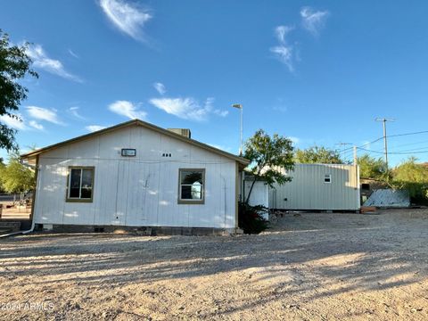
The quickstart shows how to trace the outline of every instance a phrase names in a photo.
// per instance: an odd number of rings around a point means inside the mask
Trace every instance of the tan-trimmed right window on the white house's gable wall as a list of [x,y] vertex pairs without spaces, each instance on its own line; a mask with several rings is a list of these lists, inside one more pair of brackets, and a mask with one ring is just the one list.
[[205,169],[180,169],[178,203],[203,204]]

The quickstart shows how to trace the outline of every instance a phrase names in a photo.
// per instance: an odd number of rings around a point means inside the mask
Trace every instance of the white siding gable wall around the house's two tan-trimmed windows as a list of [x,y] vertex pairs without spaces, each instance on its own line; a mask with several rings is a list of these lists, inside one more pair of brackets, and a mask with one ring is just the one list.
[[[136,148],[136,157],[122,157]],[[162,157],[163,152],[172,157]],[[93,202],[65,202],[69,166],[94,166]],[[178,169],[205,169],[205,203],[178,204]],[[235,161],[129,127],[39,158],[37,224],[235,227]]]

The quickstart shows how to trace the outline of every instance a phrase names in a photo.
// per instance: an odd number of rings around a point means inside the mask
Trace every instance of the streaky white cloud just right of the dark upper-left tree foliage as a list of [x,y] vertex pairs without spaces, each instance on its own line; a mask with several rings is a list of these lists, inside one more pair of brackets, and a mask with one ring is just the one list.
[[35,68],[45,70],[62,78],[82,82],[82,79],[78,78],[78,76],[70,74],[70,72],[65,70],[62,62],[49,58],[41,45],[30,45],[27,48],[27,54],[33,61]]

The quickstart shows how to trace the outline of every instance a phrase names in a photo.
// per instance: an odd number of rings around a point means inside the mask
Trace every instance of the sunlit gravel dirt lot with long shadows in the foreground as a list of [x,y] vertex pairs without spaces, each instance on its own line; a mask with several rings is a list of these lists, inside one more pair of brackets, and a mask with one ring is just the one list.
[[4,320],[428,319],[428,210],[287,215],[233,237],[35,234],[0,248]]

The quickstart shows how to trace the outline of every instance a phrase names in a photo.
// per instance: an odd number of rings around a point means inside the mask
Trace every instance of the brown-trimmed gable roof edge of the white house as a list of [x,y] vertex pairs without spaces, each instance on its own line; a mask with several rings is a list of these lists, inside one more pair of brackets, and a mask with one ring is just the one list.
[[201,142],[198,142],[197,140],[187,138],[185,136],[181,136],[179,134],[176,134],[174,132],[169,131],[168,129],[160,128],[158,126],[152,125],[152,124],[145,122],[143,120],[140,120],[140,119],[129,120],[129,121],[120,123],[119,125],[111,126],[110,128],[104,128],[104,129],[98,130],[94,133],[89,133],[89,134],[86,134],[83,136],[78,136],[78,137],[71,138],[69,140],[63,141],[63,142],[58,143],[58,144],[52,144],[52,145],[46,146],[46,147],[38,149],[36,151],[24,153],[21,155],[21,159],[27,159],[27,160],[33,159],[41,153],[52,151],[53,149],[60,148],[60,147],[65,146],[67,144],[81,142],[83,140],[90,139],[90,138],[93,138],[95,136],[100,136],[100,135],[103,135],[105,133],[110,133],[110,132],[115,131],[117,129],[128,128],[130,126],[135,126],[135,125],[136,126],[142,126],[144,128],[148,128],[148,129],[152,129],[153,131],[158,132],[162,135],[176,138],[178,140],[181,140],[182,142],[185,142],[187,144],[192,144],[193,146],[200,147],[200,148],[202,148],[206,151],[209,151],[209,152],[217,153],[218,155],[221,155],[221,156],[224,156],[228,159],[237,161],[239,164],[243,165],[243,167],[247,166],[250,163],[250,161],[248,161],[247,159],[244,159],[243,157],[236,156],[230,152],[222,151],[218,148],[210,146],[209,144],[203,144]]

